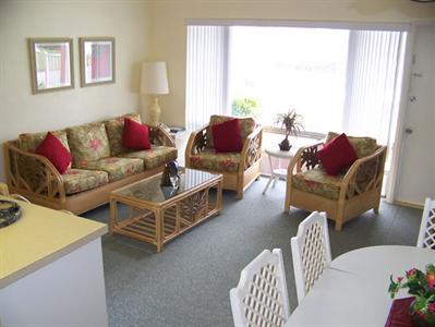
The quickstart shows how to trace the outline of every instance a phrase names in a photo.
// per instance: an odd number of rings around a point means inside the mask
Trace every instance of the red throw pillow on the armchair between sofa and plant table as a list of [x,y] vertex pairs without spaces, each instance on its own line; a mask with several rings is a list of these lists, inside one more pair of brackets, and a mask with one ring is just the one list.
[[240,123],[238,119],[231,119],[212,126],[213,142],[216,153],[240,153],[243,148],[240,136]]

